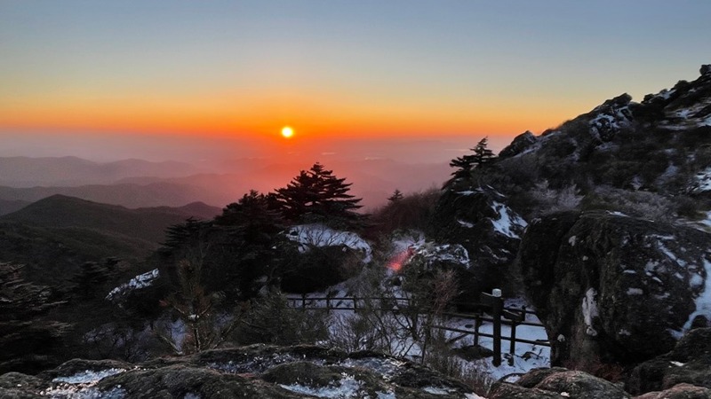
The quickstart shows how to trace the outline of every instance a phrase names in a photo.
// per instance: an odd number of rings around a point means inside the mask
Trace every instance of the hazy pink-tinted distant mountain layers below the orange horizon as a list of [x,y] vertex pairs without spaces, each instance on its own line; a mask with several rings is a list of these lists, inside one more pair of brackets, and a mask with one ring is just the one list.
[[[196,201],[224,207],[252,189],[271,192],[283,187],[310,166],[237,160],[227,173],[208,173],[181,162],[0,158],[0,215],[54,194],[131,208],[180,207]],[[324,166],[353,184],[351,193],[363,198],[366,209],[385,203],[395,189],[407,193],[440,187],[451,171],[446,163],[395,160],[330,160]]]

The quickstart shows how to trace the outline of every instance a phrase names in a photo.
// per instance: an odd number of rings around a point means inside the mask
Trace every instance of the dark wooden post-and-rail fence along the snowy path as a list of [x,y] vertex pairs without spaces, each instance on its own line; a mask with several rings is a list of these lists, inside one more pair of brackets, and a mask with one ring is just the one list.
[[[492,364],[499,366],[501,364],[501,340],[507,340],[509,342],[508,346],[508,364],[513,364],[515,355],[515,345],[516,343],[526,343],[531,345],[539,345],[543,347],[550,347],[550,342],[548,340],[525,340],[516,337],[516,327],[519,325],[531,325],[534,327],[545,328],[544,325],[540,323],[534,323],[526,321],[526,315],[531,312],[525,307],[521,309],[517,308],[507,308],[504,306],[503,298],[495,296],[489,293],[482,293],[479,298],[478,303],[467,303],[467,305],[473,306],[477,309],[487,309],[487,313],[474,312],[474,313],[458,313],[458,312],[443,312],[441,313],[444,317],[458,317],[465,320],[471,320],[473,322],[473,328],[462,329],[455,328],[446,325],[434,325],[436,329],[458,332],[460,334],[473,335],[474,345],[479,344],[479,339],[481,337],[491,338],[493,340],[493,360]],[[367,303],[378,302],[382,303],[384,301],[394,302],[396,307],[380,308],[377,310],[392,311],[396,312],[399,309],[406,308],[409,306],[409,298],[393,298],[393,297],[368,297],[359,298],[357,296],[351,297],[335,297],[335,296],[324,296],[320,298],[307,297],[306,295],[301,295],[300,297],[289,297],[289,303],[292,307],[298,309],[325,309],[325,310],[353,310],[358,311],[359,309],[366,308]],[[457,304],[457,303],[453,303]],[[369,307],[369,309],[372,309]],[[488,314],[488,315],[487,315]],[[483,323],[489,322],[493,326],[493,331],[491,334],[486,332],[480,332],[480,328]],[[501,335],[501,325],[510,325],[511,334],[509,336]],[[461,338],[461,337],[460,337]]]

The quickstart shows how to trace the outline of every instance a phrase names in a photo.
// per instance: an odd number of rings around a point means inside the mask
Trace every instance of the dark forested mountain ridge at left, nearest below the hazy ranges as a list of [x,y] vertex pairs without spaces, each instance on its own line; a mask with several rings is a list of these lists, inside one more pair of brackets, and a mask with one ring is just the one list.
[[140,261],[164,241],[167,227],[220,211],[199,202],[128,209],[52,195],[0,216],[0,260],[40,270],[46,264],[73,270],[107,257]]

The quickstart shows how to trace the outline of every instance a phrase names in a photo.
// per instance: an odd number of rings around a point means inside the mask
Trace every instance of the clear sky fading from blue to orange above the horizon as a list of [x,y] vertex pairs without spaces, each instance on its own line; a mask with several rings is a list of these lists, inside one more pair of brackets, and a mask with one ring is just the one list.
[[0,135],[514,137],[711,62],[711,2],[0,1]]

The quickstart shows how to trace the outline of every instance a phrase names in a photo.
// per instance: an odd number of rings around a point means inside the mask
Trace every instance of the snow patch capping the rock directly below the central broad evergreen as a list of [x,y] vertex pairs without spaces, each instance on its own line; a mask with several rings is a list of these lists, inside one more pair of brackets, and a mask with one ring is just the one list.
[[290,228],[286,237],[300,244],[300,252],[308,251],[309,246],[348,246],[363,253],[363,263],[372,260],[371,246],[351,231],[337,231],[323,224],[300,224]]

